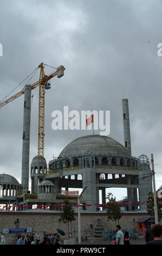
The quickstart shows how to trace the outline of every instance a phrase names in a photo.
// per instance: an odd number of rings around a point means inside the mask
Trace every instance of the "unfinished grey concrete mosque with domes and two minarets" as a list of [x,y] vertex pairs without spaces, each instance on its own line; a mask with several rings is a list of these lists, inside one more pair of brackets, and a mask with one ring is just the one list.
[[[102,192],[102,210],[106,208],[106,188],[127,188],[126,211],[144,210],[148,192],[152,191],[152,177],[141,179],[150,173],[147,156],[138,158],[131,154],[131,135],[129,127],[128,100],[122,100],[125,145],[107,136],[88,135],[74,139],[60,153],[49,161],[37,155],[29,168],[30,145],[30,105],[31,88],[25,86],[24,123],[22,149],[22,184],[9,174],[0,174],[2,194],[0,203],[6,209],[12,205],[14,210],[32,209],[34,205],[56,210],[63,204],[64,196],[77,205],[78,188],[87,189],[81,197],[82,210],[99,210],[99,191]],[[31,191],[29,192],[29,173]],[[65,188],[63,191],[62,188]],[[69,191],[75,188],[76,191]],[[89,205],[89,206],[87,206]],[[28,206],[22,208],[20,206]]]

